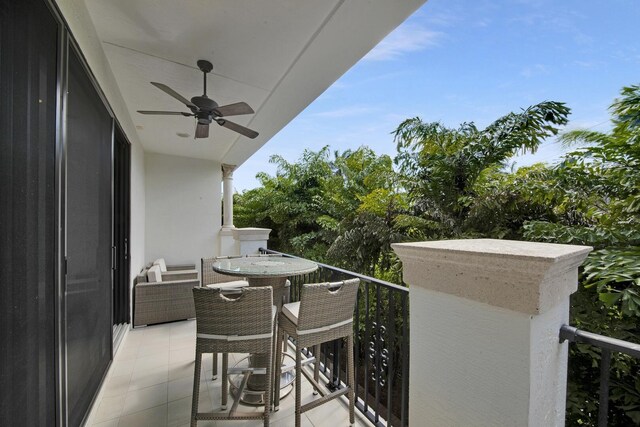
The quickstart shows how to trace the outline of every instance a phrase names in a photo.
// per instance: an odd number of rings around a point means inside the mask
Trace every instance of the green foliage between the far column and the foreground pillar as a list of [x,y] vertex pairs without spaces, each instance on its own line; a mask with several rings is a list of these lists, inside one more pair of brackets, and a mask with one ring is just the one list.
[[236,223],[274,230],[273,249],[373,274],[391,265],[396,213],[406,209],[389,156],[371,149],[307,150],[296,163],[274,156],[276,176],[236,195]]

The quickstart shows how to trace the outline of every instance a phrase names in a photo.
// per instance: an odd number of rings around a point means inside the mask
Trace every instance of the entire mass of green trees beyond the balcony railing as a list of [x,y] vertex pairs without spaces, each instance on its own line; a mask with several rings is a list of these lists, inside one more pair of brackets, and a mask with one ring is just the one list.
[[[610,111],[608,133],[560,135],[574,148],[555,166],[505,168],[514,154],[534,152],[559,133],[569,109],[558,102],[507,114],[484,129],[408,119],[393,132],[393,162],[366,147],[305,151],[296,163],[274,156],[276,176],[259,174],[260,188],[236,195],[235,222],[273,229],[274,249],[396,283],[401,264],[391,244],[399,241],[589,245],[594,251],[580,270],[571,323],[638,342],[640,86],[623,88]],[[397,303],[383,308],[397,313]],[[570,358],[567,423],[596,425],[600,352],[572,345]],[[640,425],[640,363],[614,354],[611,366],[609,423]]]

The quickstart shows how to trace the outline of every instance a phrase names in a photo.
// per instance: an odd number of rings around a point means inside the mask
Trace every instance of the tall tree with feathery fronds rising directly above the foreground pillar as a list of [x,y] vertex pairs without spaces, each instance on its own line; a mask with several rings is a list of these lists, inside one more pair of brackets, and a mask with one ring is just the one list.
[[[567,123],[562,103],[542,102],[520,113],[509,113],[478,129],[462,123],[457,129],[420,118],[405,120],[394,132],[403,184],[414,214],[440,224],[426,230],[429,238],[470,233],[465,227],[477,196],[475,185],[488,170],[496,170],[519,151],[535,152],[541,142]],[[499,234],[499,233],[498,233]]]

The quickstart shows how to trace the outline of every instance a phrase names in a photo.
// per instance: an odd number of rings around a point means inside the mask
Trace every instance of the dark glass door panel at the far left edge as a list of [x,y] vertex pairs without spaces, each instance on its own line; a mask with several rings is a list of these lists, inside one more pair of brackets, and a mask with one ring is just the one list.
[[58,25],[0,2],[0,425],[55,422]]

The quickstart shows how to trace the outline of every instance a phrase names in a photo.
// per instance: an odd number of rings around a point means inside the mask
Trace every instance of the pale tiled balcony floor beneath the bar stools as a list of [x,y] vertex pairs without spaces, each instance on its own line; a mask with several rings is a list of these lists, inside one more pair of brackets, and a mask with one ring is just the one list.
[[[89,422],[96,427],[187,427],[195,347],[195,321],[167,323],[129,331],[105,380]],[[242,355],[230,355],[235,364]],[[220,408],[220,379],[211,380],[211,355],[205,355],[200,382],[201,412]],[[218,368],[220,370],[220,367]],[[303,380],[303,403],[314,398]],[[293,394],[282,399],[280,410],[271,414],[271,425],[293,426]],[[231,398],[229,399],[231,402]],[[241,405],[240,411],[261,410]],[[260,426],[255,421],[199,421],[199,427]],[[337,399],[302,414],[303,426],[349,425],[346,400]],[[356,425],[370,424],[356,411]]]

